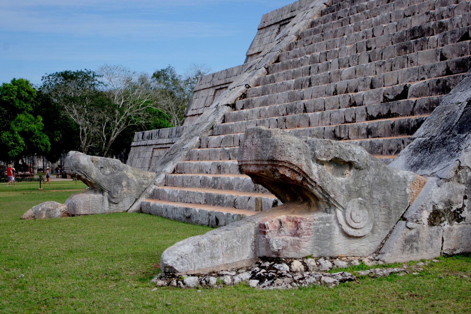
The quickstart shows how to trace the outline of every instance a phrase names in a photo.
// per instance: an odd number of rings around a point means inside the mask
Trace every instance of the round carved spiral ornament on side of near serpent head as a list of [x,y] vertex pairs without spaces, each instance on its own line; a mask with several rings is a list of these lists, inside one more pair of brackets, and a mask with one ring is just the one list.
[[337,209],[337,217],[343,231],[355,237],[364,236],[373,228],[373,209],[361,198],[350,200],[343,211]]

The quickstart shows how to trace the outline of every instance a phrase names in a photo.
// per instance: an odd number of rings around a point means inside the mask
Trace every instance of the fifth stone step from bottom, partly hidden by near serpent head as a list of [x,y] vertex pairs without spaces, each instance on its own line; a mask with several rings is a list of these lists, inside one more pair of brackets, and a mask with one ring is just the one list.
[[[415,129],[415,128],[414,128]],[[372,155],[397,155],[407,145],[412,142],[412,136],[392,136],[392,137],[375,137],[360,140],[342,140],[348,141],[351,144],[359,145]],[[238,147],[230,147],[235,159],[237,158]],[[190,160],[195,161],[214,161],[224,159],[222,156],[225,154],[224,151],[227,147],[222,148],[199,148],[190,151]],[[211,153],[208,154],[208,151]],[[218,158],[219,157],[219,158]],[[168,185],[168,184],[167,184]],[[179,186],[179,185],[177,185]]]

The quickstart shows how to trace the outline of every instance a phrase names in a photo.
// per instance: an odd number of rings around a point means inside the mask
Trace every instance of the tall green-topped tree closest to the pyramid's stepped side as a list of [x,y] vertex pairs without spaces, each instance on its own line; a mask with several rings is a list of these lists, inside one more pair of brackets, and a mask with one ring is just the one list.
[[171,65],[154,72],[159,108],[169,116],[172,125],[181,125],[198,77],[210,71],[206,64],[192,64],[184,76],[177,74]]

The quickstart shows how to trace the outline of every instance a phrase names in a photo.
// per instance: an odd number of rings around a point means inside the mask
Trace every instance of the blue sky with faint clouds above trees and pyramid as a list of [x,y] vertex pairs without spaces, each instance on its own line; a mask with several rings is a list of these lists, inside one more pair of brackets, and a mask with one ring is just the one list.
[[0,0],[0,83],[122,64],[244,63],[261,16],[291,0]]

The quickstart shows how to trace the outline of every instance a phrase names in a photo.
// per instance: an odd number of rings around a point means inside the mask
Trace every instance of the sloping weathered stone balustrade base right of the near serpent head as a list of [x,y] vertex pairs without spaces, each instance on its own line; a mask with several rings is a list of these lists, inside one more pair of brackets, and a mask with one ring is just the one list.
[[471,251],[471,71],[390,163],[427,178],[380,251],[387,262]]

